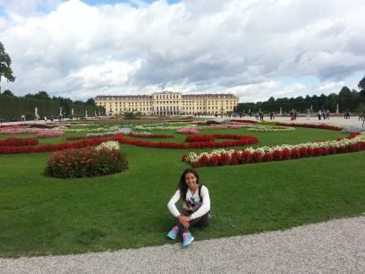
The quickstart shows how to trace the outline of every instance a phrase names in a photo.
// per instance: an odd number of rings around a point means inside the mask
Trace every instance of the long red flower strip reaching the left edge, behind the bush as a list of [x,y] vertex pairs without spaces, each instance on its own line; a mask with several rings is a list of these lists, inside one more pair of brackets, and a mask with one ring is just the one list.
[[37,153],[37,152],[48,152],[56,150],[78,149],[78,148],[96,146],[104,141],[108,140],[98,138],[86,141],[77,141],[73,143],[63,142],[58,144],[47,144],[41,146],[23,146],[23,147],[0,146],[0,154]]

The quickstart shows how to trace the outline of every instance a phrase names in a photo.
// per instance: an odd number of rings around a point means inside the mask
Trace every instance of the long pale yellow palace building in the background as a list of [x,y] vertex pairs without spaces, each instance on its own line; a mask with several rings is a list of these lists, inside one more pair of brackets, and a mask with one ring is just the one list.
[[233,94],[182,94],[162,91],[152,95],[97,96],[97,106],[106,108],[106,115],[123,115],[139,111],[145,115],[215,115],[233,112],[238,98]]

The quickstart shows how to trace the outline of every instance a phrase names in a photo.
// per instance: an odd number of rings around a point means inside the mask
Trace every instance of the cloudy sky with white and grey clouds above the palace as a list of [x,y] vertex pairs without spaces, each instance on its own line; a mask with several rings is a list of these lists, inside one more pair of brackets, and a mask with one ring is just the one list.
[[356,89],[363,0],[0,0],[18,96],[233,92],[241,102]]

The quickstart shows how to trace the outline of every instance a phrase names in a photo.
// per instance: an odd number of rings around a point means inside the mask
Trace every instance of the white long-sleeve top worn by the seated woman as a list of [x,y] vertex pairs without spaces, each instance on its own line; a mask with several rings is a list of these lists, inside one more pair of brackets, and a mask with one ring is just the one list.
[[[173,214],[175,218],[177,218],[179,215],[181,215],[179,210],[177,210],[176,205],[175,205],[175,203],[177,201],[179,201],[180,195],[181,195],[180,190],[178,189],[174,193],[174,196],[171,198],[171,200],[167,204],[168,210],[170,210],[171,214]],[[191,219],[199,218],[199,217],[207,214],[208,211],[210,210],[209,192],[208,192],[208,188],[205,185],[203,185],[201,187],[200,195],[201,195],[201,198],[203,199],[203,202],[202,202],[199,210],[197,210],[197,211],[195,211],[191,214],[191,216],[190,216]],[[192,210],[191,201],[194,201],[195,204],[201,203],[198,189],[194,193],[194,195],[192,195],[190,189],[188,188],[188,191],[186,193],[186,200],[183,201],[183,208],[185,210]]]

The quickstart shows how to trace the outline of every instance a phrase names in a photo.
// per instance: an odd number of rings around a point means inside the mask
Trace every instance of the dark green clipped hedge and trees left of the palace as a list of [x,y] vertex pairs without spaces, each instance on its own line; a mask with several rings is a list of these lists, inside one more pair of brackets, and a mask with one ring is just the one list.
[[71,98],[53,97],[50,98],[46,91],[39,91],[36,94],[27,94],[24,97],[17,97],[10,90],[4,90],[0,93],[0,116],[6,120],[21,120],[21,116],[26,116],[27,120],[34,119],[35,108],[38,108],[38,116],[48,118],[59,116],[60,107],[64,117],[94,116],[100,113],[105,114],[104,107],[97,107],[93,98],[86,102],[72,101]]

